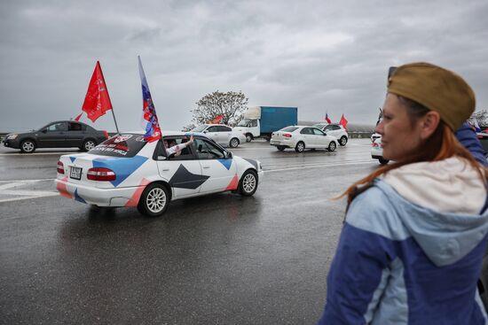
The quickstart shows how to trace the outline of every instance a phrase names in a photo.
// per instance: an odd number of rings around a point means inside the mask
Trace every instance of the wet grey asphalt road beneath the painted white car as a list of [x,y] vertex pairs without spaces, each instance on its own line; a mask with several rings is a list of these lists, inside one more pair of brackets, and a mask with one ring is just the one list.
[[266,173],[254,197],[172,202],[150,219],[59,197],[57,151],[0,149],[0,323],[313,324],[343,200],[371,142],[335,152],[245,143]]

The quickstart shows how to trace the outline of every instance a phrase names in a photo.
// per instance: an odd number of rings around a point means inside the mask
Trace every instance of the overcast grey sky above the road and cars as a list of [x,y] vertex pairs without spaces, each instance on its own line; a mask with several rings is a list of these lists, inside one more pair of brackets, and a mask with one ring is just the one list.
[[[486,17],[485,0],[0,0],[0,132],[74,118],[97,60],[119,128],[138,129],[138,55],[165,129],[217,89],[373,125],[388,67],[413,61],[457,72],[488,109]],[[115,129],[110,113],[82,121]]]

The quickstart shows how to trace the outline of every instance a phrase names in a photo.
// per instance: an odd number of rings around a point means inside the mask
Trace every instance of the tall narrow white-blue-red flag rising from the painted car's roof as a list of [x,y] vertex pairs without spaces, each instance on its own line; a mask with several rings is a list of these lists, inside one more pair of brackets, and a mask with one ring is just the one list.
[[161,128],[158,122],[158,116],[156,115],[156,109],[154,108],[153,98],[151,97],[151,92],[149,91],[149,86],[147,85],[146,74],[144,74],[144,69],[142,68],[141,58],[138,57],[139,61],[139,75],[141,77],[142,83],[142,128],[146,131],[144,138],[147,142],[152,143],[153,141],[161,139]]

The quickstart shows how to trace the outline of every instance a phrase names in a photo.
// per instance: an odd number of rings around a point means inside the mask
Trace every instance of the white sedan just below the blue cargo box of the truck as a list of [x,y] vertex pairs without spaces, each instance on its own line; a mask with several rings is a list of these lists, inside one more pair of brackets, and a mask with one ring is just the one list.
[[326,135],[319,128],[293,126],[281,128],[272,133],[271,145],[276,146],[279,151],[286,148],[295,148],[296,152],[305,149],[327,149],[335,151],[337,139],[335,136]]

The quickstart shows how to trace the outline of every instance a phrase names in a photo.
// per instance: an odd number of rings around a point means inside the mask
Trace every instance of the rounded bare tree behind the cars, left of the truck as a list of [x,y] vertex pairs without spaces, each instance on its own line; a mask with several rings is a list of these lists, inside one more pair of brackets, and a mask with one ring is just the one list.
[[193,122],[197,125],[208,123],[223,115],[222,124],[235,125],[242,119],[242,113],[248,107],[248,98],[241,92],[218,90],[205,95],[197,103],[193,112]]

